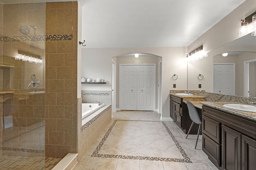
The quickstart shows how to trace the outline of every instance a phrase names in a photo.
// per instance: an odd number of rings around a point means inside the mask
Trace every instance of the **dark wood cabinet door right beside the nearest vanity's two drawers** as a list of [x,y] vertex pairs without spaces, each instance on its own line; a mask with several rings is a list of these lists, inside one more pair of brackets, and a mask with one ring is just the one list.
[[226,170],[241,169],[242,134],[222,125],[222,168]]

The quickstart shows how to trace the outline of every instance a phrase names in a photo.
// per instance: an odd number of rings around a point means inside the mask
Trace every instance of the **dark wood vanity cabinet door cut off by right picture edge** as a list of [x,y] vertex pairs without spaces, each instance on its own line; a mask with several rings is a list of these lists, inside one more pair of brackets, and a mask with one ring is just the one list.
[[256,141],[242,135],[242,170],[255,170]]

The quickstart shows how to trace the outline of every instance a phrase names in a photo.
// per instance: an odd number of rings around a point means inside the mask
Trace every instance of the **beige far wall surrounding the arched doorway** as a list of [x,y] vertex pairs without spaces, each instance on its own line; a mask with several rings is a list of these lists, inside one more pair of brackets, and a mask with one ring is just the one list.
[[[93,74],[104,77],[110,84],[103,86],[104,90],[111,90],[112,77],[112,57],[131,53],[146,53],[162,57],[162,117],[170,119],[170,90],[184,90],[187,88],[187,65],[186,65],[186,47],[153,47],[153,48],[98,48],[82,49],[83,58],[87,61],[82,62],[82,75]],[[97,67],[94,64],[98,64]],[[101,67],[103,65],[103,67]],[[83,67],[84,66],[84,67]],[[172,80],[172,75],[177,74],[178,79]],[[173,88],[172,84],[176,84]],[[82,86],[82,90],[83,90]],[[86,86],[86,89],[96,88],[95,86]]]

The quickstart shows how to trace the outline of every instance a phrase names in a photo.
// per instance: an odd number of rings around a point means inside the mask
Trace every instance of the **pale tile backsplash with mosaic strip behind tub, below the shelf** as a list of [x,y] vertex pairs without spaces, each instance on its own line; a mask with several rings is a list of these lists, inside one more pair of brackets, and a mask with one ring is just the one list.
[[99,101],[104,104],[111,104],[111,91],[82,90],[81,94],[83,103],[95,103],[94,101]]

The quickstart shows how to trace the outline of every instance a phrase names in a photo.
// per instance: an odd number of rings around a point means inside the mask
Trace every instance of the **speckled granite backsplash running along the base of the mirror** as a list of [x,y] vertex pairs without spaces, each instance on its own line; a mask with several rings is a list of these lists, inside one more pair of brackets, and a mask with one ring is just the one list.
[[[171,94],[176,93],[184,93],[186,90],[170,90]],[[249,98],[244,96],[234,96],[234,95],[226,95],[226,94],[216,94],[209,93],[202,90],[190,90],[190,92],[194,95],[205,97],[206,102],[238,102],[242,104],[249,104],[250,102],[256,102],[256,98]],[[182,97],[183,98],[183,97]],[[188,98],[185,96],[185,98]]]

